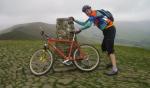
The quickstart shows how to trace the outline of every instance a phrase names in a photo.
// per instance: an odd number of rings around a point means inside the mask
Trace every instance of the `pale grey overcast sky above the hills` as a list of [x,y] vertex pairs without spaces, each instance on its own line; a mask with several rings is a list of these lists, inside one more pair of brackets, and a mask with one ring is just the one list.
[[150,20],[150,0],[0,0],[0,27],[37,21],[54,24],[56,18],[68,16],[86,20],[81,11],[85,4],[107,9],[119,21]]

